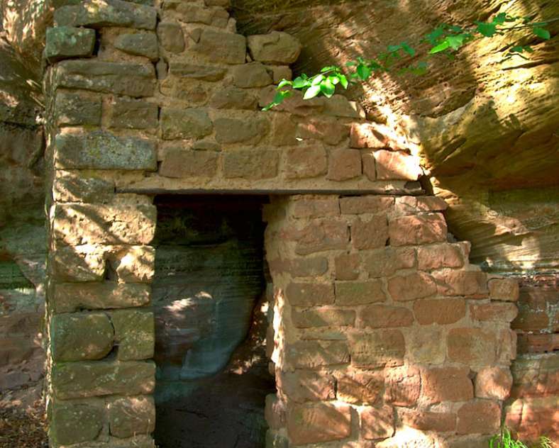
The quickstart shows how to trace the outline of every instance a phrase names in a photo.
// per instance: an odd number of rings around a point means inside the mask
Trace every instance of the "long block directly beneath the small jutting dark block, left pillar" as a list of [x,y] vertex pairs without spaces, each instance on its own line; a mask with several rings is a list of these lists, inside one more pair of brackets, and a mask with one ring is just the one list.
[[62,61],[56,67],[55,85],[135,97],[152,96],[155,69],[153,65],[124,62]]

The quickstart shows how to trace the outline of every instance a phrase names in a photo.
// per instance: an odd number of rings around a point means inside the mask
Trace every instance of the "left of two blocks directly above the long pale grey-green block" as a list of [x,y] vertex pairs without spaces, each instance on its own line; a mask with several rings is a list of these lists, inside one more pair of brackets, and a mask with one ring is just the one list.
[[55,116],[59,125],[99,125],[101,124],[101,99],[57,92]]

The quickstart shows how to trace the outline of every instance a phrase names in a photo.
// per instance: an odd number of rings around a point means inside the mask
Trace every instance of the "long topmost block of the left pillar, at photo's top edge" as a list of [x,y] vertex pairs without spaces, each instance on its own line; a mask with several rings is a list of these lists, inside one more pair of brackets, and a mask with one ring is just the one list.
[[153,30],[156,21],[155,8],[121,0],[85,0],[55,11],[57,26],[125,26]]

